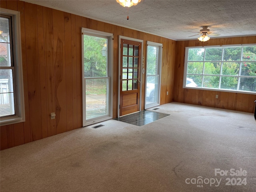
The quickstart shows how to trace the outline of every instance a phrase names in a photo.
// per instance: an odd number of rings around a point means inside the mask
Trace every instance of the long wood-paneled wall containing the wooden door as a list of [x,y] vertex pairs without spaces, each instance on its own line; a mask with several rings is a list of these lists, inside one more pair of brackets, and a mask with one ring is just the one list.
[[[26,113],[25,122],[0,127],[1,150],[82,127],[82,27],[114,34],[113,117],[119,35],[144,40],[144,56],[146,41],[163,44],[160,104],[173,101],[176,41],[22,1],[1,0],[0,7],[20,11]],[[142,108],[144,90],[145,74]]]

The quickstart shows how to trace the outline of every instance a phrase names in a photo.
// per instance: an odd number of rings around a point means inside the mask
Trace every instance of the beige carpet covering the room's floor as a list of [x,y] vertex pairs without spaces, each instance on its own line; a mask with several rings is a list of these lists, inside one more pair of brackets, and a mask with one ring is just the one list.
[[256,191],[253,114],[157,108],[170,116],[144,126],[108,120],[2,150],[1,192]]

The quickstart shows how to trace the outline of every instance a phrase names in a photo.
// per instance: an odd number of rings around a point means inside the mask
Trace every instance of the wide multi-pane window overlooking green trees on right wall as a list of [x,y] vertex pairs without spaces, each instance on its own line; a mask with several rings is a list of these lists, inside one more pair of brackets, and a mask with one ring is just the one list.
[[186,48],[184,87],[256,92],[256,46]]

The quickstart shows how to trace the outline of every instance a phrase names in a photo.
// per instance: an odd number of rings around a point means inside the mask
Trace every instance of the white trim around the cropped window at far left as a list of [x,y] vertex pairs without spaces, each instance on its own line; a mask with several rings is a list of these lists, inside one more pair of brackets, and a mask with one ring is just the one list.
[[12,16],[12,33],[13,33],[13,49],[15,63],[15,85],[16,104],[14,116],[0,118],[0,125],[9,125],[25,121],[25,105],[24,105],[24,89],[23,89],[23,74],[22,74],[22,52],[21,52],[21,34],[20,34],[20,12],[0,8],[1,14]]

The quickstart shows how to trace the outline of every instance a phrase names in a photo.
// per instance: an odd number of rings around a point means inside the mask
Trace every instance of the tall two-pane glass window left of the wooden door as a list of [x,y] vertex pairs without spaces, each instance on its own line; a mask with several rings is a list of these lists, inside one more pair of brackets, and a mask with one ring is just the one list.
[[112,118],[112,34],[82,28],[83,126]]

